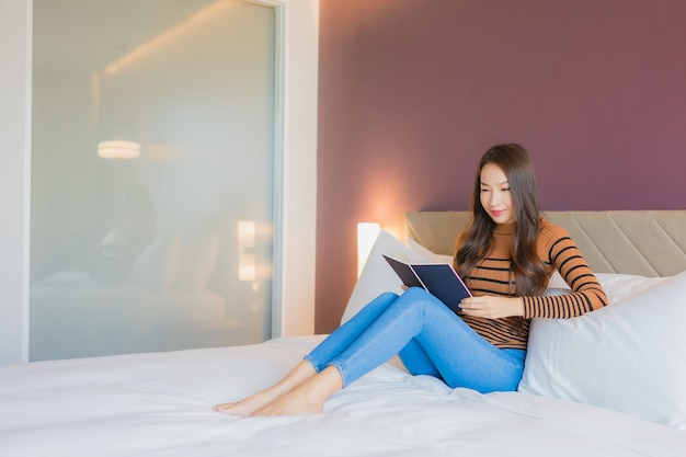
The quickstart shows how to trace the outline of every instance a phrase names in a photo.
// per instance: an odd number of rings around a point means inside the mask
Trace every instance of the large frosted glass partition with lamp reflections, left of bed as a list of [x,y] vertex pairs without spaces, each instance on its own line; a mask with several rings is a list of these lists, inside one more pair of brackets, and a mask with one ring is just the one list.
[[34,0],[32,361],[270,336],[275,25],[243,1]]

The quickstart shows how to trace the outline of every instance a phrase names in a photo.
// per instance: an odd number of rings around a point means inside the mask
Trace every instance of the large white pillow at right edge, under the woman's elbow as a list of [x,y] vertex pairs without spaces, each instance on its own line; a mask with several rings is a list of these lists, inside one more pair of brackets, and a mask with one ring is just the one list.
[[518,390],[686,430],[685,322],[686,272],[578,318],[534,319]]

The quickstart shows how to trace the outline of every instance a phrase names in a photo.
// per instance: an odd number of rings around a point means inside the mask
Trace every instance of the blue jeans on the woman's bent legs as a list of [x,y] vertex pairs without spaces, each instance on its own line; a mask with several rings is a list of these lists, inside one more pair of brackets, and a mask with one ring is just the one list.
[[318,373],[336,367],[346,387],[396,354],[413,375],[487,393],[517,389],[525,351],[494,346],[437,298],[411,287],[375,298],[305,359]]

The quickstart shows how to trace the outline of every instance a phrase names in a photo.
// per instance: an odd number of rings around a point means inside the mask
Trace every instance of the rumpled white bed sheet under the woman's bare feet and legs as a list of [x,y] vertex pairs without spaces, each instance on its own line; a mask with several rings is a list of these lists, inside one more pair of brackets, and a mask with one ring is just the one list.
[[265,387],[319,338],[0,368],[0,456],[686,456],[686,433],[517,392],[479,395],[392,363],[324,414],[211,410]]

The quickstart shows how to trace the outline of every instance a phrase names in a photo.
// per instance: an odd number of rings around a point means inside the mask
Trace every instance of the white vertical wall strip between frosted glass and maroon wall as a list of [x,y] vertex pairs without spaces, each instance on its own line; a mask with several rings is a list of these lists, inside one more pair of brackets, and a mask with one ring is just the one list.
[[275,335],[315,332],[319,0],[285,11],[282,309]]

